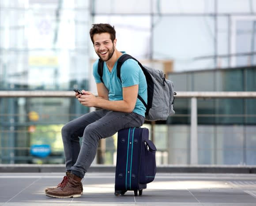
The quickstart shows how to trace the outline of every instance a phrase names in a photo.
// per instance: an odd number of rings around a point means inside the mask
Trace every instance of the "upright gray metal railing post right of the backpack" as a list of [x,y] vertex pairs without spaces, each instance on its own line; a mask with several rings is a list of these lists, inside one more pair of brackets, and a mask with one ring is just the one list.
[[197,141],[197,99],[191,98],[191,119],[190,119],[190,164],[198,164],[198,141]]

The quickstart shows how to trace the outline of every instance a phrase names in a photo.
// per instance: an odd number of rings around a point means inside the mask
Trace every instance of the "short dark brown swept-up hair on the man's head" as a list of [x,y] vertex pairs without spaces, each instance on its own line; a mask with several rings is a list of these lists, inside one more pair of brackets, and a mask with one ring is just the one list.
[[94,34],[100,34],[105,32],[110,34],[110,39],[112,40],[112,42],[114,42],[116,38],[116,30],[114,26],[111,26],[110,24],[93,24],[92,28],[90,29],[90,39],[92,43],[94,44]]

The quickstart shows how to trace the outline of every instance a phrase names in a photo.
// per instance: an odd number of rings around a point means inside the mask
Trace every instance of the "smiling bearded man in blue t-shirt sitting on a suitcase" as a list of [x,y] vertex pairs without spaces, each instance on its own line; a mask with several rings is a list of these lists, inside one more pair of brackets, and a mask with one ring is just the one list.
[[[80,197],[83,193],[81,180],[96,155],[98,141],[113,136],[120,129],[140,127],[144,123],[143,103],[147,103],[147,82],[143,71],[133,59],[128,59],[121,67],[121,81],[117,77],[117,59],[124,54],[116,48],[114,27],[109,24],[94,24],[90,29],[94,50],[102,61],[103,82],[98,74],[98,60],[93,65],[93,75],[98,96],[84,91],[75,93],[78,101],[96,110],[68,122],[61,130],[64,144],[66,176],[55,188],[46,188],[47,196],[56,198]],[[79,137],[83,138],[80,148]]]

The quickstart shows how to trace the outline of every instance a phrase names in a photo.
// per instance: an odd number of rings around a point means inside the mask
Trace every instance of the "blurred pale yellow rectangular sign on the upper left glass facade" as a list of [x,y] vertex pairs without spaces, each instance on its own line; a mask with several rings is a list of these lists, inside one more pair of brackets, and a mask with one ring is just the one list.
[[58,57],[56,56],[30,56],[29,66],[58,66]]

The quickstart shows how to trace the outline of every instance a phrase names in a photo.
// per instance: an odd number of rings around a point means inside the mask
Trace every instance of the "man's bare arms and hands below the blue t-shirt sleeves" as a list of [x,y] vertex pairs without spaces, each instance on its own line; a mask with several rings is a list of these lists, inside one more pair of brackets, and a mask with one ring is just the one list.
[[131,113],[134,110],[134,107],[137,101],[139,85],[124,87],[123,100],[109,101],[108,99],[105,99],[105,91],[102,88],[101,84],[103,85],[103,83],[97,84],[98,95],[100,98],[95,97],[90,92],[82,91],[85,95],[77,96],[79,102],[82,105],[87,107],[100,107],[106,110],[113,110],[113,111],[120,111],[120,112],[127,112],[127,113]]

